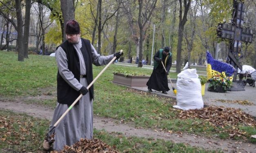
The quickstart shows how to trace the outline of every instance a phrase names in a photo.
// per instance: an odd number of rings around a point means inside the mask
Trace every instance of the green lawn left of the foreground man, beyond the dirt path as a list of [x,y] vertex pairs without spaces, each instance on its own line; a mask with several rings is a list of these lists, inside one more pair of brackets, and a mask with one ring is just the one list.
[[29,55],[24,62],[16,52],[0,51],[0,96],[35,96],[44,87],[56,86],[55,58]]

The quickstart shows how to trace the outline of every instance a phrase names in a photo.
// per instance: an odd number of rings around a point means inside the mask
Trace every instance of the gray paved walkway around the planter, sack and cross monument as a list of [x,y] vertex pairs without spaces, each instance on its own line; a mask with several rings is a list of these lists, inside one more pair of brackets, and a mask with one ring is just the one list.
[[[173,83],[174,87],[176,87],[176,83]],[[256,119],[256,87],[251,87],[248,84],[245,86],[245,91],[236,91],[230,92],[227,91],[226,93],[216,93],[216,92],[208,92],[207,87],[209,83],[205,85],[205,95],[203,96],[203,101],[205,105],[208,106],[225,106],[225,107],[234,107],[240,108],[246,113],[254,116]],[[145,87],[131,87],[136,90],[147,91],[147,86]],[[169,88],[171,89],[171,83],[169,83]],[[178,92],[178,91],[177,91]],[[169,98],[175,98],[176,95],[173,93],[172,90],[167,92],[167,94],[162,94],[162,92],[158,92],[153,90],[152,94],[157,94],[158,96],[165,96]],[[240,105],[236,103],[222,103],[218,100],[247,100],[254,105]]]

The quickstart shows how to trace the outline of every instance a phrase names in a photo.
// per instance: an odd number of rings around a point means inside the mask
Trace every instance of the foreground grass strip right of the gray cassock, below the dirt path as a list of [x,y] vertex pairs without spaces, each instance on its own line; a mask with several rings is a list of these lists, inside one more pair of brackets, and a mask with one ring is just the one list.
[[[220,153],[221,151],[206,151],[183,143],[175,144],[153,138],[125,137],[122,134],[94,130],[94,137],[114,146],[123,153]],[[113,136],[115,135],[115,136]]]

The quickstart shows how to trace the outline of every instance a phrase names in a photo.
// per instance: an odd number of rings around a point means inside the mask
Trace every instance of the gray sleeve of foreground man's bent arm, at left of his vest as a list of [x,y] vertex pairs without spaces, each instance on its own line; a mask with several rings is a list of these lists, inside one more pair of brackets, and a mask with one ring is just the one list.
[[74,77],[74,74],[69,70],[67,64],[67,55],[61,47],[58,47],[58,49],[56,50],[55,57],[60,76],[76,91],[80,90],[82,85]]

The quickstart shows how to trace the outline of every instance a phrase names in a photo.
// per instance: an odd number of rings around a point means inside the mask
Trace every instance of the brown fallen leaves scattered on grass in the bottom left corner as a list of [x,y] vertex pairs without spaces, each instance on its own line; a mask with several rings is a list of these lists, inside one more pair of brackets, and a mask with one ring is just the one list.
[[40,136],[35,128],[35,126],[41,126],[41,124],[31,117],[0,115],[0,142],[3,143],[4,147],[18,147],[22,144],[22,147],[19,147],[19,153],[28,152],[31,148],[25,144],[34,144],[34,146],[39,147],[41,143]]

